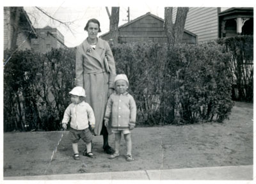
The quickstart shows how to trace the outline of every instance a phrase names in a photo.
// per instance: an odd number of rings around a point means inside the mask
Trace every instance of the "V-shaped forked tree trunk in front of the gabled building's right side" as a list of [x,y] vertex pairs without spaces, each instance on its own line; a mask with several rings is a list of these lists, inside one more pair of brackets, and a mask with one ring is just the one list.
[[172,22],[172,7],[164,8],[164,27],[166,31],[168,45],[182,42],[184,27],[189,8],[178,7],[175,24]]

